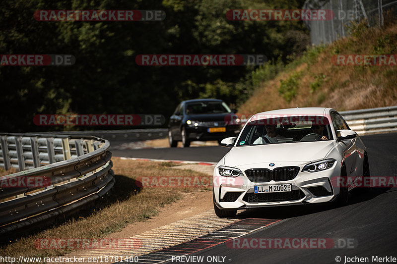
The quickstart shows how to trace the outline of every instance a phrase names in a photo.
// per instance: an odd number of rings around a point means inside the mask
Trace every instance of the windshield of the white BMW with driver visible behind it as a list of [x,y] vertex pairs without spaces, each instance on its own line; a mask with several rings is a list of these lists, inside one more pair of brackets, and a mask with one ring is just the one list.
[[237,146],[332,140],[330,123],[325,116],[258,117],[254,116],[245,126]]

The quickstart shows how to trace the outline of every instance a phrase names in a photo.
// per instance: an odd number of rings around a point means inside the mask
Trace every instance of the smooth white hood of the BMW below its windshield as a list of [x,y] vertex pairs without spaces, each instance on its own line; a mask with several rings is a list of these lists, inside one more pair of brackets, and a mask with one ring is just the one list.
[[325,158],[334,146],[334,141],[316,141],[233,147],[225,155],[224,163],[235,167],[264,162],[311,162]]

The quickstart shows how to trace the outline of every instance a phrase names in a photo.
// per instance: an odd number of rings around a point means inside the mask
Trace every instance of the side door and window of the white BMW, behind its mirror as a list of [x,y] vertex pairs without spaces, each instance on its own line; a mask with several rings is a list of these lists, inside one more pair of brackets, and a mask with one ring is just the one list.
[[[349,129],[348,126],[346,125],[344,119],[339,115],[339,113],[332,112],[331,118],[332,118],[332,125],[333,125],[333,128],[335,129],[336,136],[338,136],[336,130]],[[356,167],[357,148],[356,148],[355,142],[356,142],[356,138],[338,141],[338,144],[340,144],[340,147],[343,150],[343,157],[345,160],[347,176],[351,176],[352,180],[354,180],[355,177],[357,176],[357,167]]]

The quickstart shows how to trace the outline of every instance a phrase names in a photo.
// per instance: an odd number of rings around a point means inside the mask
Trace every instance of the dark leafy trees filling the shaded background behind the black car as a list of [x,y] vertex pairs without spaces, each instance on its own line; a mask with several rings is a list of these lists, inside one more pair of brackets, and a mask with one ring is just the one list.
[[[186,99],[217,97],[237,107],[308,44],[297,21],[230,21],[233,8],[300,8],[304,0],[2,0],[1,54],[73,54],[73,66],[0,66],[0,130],[37,127],[36,114],[161,113]],[[38,9],[162,9],[161,22],[36,21]],[[138,54],[264,54],[252,66],[138,66]],[[277,60],[279,58],[279,60]],[[269,66],[263,66],[265,69]],[[252,78],[254,74],[254,78]],[[112,127],[108,127],[112,129]],[[107,128],[107,129],[108,129]],[[120,127],[114,127],[120,129]],[[76,129],[76,128],[72,128]],[[79,127],[92,129],[92,127]],[[103,129],[103,128],[99,128]]]

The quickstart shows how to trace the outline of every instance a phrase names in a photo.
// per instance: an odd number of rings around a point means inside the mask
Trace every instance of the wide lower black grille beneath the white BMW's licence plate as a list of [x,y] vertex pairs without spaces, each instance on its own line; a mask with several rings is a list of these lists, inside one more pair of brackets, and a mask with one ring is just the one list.
[[243,201],[247,203],[268,203],[268,202],[284,202],[295,201],[305,197],[301,190],[292,190],[291,192],[281,193],[246,193]]

